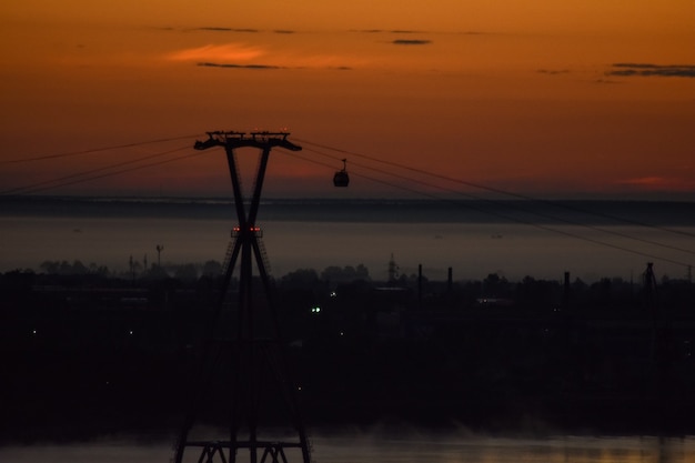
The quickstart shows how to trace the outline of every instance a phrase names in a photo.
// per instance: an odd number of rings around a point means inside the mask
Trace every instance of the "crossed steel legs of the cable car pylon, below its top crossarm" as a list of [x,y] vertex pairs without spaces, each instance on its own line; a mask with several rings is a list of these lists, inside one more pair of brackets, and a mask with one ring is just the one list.
[[[187,450],[197,447],[200,452],[198,459],[191,461],[197,461],[198,463],[235,463],[240,457],[240,450],[248,452],[246,456],[250,463],[259,463],[259,456],[260,463],[269,461],[288,463],[285,451],[288,449],[295,449],[295,451],[301,451],[302,462],[310,463],[309,442],[303,423],[299,417],[300,407],[295,391],[289,385],[285,372],[281,369],[283,362],[280,362],[275,354],[275,351],[281,349],[279,321],[273,304],[272,283],[264,264],[263,252],[259,244],[259,230],[255,228],[255,218],[260,205],[270,145],[263,148],[261,154],[249,211],[245,209],[241,193],[241,183],[233,149],[229,145],[225,148],[234,191],[234,208],[239,219],[239,228],[229,265],[225,269],[222,280],[221,294],[208,329],[202,359],[205,366],[204,370],[195,376],[200,379],[198,382],[199,392],[195,394],[197,399],[182,427],[177,444],[174,461],[175,463],[183,463]],[[256,321],[260,320],[259,310],[261,305],[256,304],[254,301],[254,296],[256,295],[253,285],[254,261],[272,322],[273,335],[270,341],[262,340],[259,336],[259,326],[256,326]],[[239,263],[239,293],[235,301],[236,320],[234,330],[230,332],[232,338],[230,340],[231,342],[225,343],[214,340],[214,333],[218,331],[219,322],[222,320],[232,273],[236,263]],[[226,397],[230,411],[229,439],[226,441],[192,441],[190,440],[190,434],[195,424],[197,407],[208,393],[209,386],[215,380],[219,381],[220,378],[216,373],[222,364],[221,360],[224,354],[226,354],[229,361],[231,361],[231,384]],[[261,405],[269,402],[265,401],[265,396],[262,395],[265,392],[263,386],[266,385],[266,382],[263,381],[264,371],[271,373],[274,385],[279,389],[279,396],[283,399],[284,405],[289,412],[289,420],[291,421],[289,424],[291,424],[296,432],[296,441],[278,441],[276,439],[263,439],[261,436],[259,429],[259,410]],[[200,399],[200,401],[198,399]],[[215,405],[216,404],[218,403],[215,403]],[[245,439],[241,437],[242,431],[245,432]]]

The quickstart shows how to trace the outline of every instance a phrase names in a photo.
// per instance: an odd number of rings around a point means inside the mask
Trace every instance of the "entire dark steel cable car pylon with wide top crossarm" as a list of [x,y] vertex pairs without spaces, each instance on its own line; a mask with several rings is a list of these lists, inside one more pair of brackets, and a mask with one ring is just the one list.
[[[288,381],[282,370],[284,363],[279,360],[281,354],[280,330],[272,301],[272,288],[269,270],[261,242],[261,229],[255,220],[261,202],[263,179],[272,148],[284,148],[300,151],[302,148],[288,140],[285,132],[208,132],[209,139],[197,141],[197,150],[222,147],[226,152],[230,177],[234,193],[234,209],[239,225],[232,231],[232,243],[228,252],[222,288],[214,309],[203,350],[205,365],[193,378],[198,391],[193,394],[192,406],[187,414],[175,445],[175,463],[289,463],[288,456],[301,454],[302,463],[310,463],[310,447],[306,432],[300,416],[296,389]],[[236,148],[256,148],[261,150],[259,168],[253,187],[251,202],[245,203],[241,191],[239,169],[234,155]],[[248,205],[248,209],[246,209]],[[235,324],[224,322],[224,310],[230,282],[239,262],[239,291],[236,303],[232,301]],[[254,300],[253,261],[258,269],[264,303]],[[232,318],[233,319],[233,318]],[[226,319],[230,320],[230,319]],[[231,326],[233,325],[233,326]],[[220,338],[226,338],[221,340]],[[220,371],[222,358],[229,356],[230,371]],[[219,419],[229,420],[228,434],[223,439],[194,439],[192,436],[197,415],[201,412],[202,402],[210,400],[212,384],[223,391],[222,401],[212,403],[213,414]],[[220,382],[224,384],[219,384]],[[271,383],[273,391],[269,391]],[[281,404],[290,423],[294,427],[294,437],[288,434],[265,436],[261,430],[260,412],[263,405],[273,402]],[[271,410],[270,413],[278,412]],[[240,452],[241,451],[241,452]],[[244,452],[245,457],[244,457]],[[298,452],[299,451],[299,452]],[[240,459],[240,460],[238,460]]]

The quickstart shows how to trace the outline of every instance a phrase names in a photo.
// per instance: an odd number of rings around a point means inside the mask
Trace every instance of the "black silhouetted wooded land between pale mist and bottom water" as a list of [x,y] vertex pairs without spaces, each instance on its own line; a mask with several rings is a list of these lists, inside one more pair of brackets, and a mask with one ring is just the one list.
[[[99,269],[49,262],[0,275],[3,439],[181,423],[220,272]],[[356,265],[300,269],[273,285],[310,427],[695,431],[688,281],[661,279],[648,299],[621,279],[374,281]]]

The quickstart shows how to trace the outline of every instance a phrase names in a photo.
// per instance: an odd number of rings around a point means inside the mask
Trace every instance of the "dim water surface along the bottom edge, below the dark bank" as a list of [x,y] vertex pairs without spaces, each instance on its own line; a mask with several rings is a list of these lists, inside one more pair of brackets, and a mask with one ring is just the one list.
[[[165,463],[172,455],[170,442],[143,443],[130,437],[0,447],[0,461],[13,463]],[[384,437],[341,433],[313,439],[312,456],[318,463],[685,463],[695,461],[695,437]]]

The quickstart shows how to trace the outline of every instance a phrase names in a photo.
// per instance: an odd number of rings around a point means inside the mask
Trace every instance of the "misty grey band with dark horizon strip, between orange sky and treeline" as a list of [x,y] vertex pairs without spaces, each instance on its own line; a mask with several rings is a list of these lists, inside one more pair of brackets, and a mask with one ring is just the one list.
[[[276,278],[298,269],[364,264],[382,281],[391,255],[401,274],[416,274],[422,265],[424,276],[440,281],[449,268],[455,280],[490,273],[512,281],[562,280],[571,272],[588,282],[638,281],[646,262],[655,262],[657,276],[681,279],[695,263],[695,204],[578,204],[592,214],[566,209],[575,203],[563,205],[524,203],[535,208],[528,212],[517,204],[479,204],[495,212],[485,214],[459,203],[274,202],[262,204],[258,224]],[[79,260],[114,272],[127,272],[131,256],[142,264],[223,261],[238,223],[232,212],[229,203],[201,201],[6,201],[0,272],[38,269],[47,260]]]

